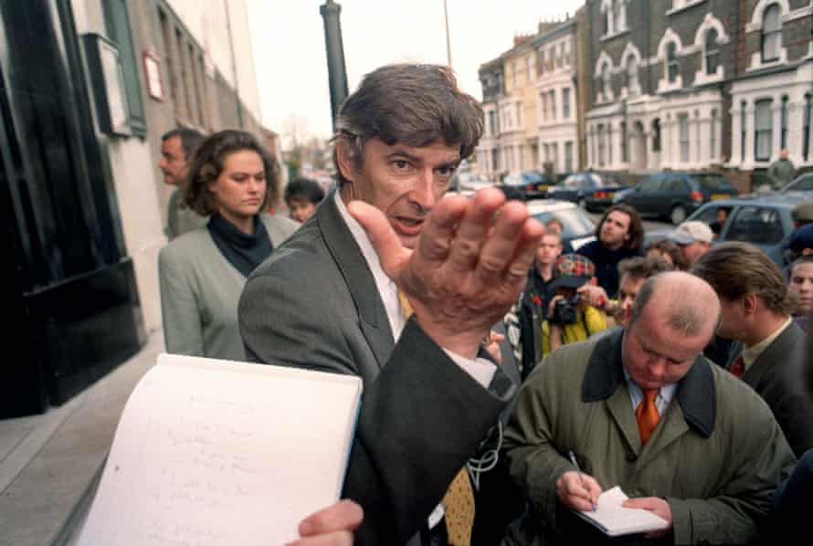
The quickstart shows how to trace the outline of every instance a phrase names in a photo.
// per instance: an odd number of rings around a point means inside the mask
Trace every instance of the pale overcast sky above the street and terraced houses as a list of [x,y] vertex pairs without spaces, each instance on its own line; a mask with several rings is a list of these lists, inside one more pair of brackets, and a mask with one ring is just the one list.
[[[332,131],[319,7],[324,0],[247,0],[263,124],[285,136]],[[393,62],[446,64],[443,0],[338,0],[348,88]],[[584,0],[447,0],[451,65],[460,87],[480,100],[477,69],[539,21],[573,14]],[[284,140],[284,139],[283,139]]]

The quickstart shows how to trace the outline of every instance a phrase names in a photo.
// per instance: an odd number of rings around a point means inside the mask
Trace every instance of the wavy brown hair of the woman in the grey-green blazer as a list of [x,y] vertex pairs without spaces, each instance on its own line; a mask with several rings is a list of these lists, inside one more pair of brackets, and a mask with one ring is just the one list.
[[262,206],[276,204],[280,197],[280,168],[269,152],[250,132],[227,130],[216,132],[201,142],[189,163],[189,176],[184,186],[184,201],[198,215],[208,216],[217,211],[217,204],[208,184],[223,172],[228,155],[249,150],[256,152],[265,171],[266,193]]

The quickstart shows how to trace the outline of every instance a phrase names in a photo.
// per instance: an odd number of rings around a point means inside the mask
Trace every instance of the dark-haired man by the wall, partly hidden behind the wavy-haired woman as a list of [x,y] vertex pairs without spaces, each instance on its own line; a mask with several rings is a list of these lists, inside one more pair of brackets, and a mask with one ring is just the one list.
[[173,185],[166,213],[166,236],[169,240],[187,231],[206,226],[206,216],[195,213],[184,202],[184,190],[189,162],[204,135],[194,129],[174,129],[161,137],[161,161],[158,168],[164,174],[164,183]]

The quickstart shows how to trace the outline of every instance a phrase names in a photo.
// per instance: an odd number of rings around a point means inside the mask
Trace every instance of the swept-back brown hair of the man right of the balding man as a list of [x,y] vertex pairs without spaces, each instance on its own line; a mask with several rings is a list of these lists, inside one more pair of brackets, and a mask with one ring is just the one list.
[[765,307],[789,315],[797,295],[787,289],[782,271],[765,252],[749,243],[722,243],[709,249],[689,270],[710,285],[721,299],[733,301],[754,294]]

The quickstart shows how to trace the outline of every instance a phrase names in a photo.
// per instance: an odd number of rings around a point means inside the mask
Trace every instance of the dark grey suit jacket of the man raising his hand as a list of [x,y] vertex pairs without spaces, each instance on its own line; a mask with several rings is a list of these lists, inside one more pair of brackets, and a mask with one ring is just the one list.
[[513,392],[499,371],[482,388],[416,320],[394,343],[333,194],[248,278],[238,318],[251,360],[364,380],[343,487],[364,508],[356,544],[413,537]]

